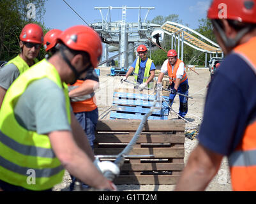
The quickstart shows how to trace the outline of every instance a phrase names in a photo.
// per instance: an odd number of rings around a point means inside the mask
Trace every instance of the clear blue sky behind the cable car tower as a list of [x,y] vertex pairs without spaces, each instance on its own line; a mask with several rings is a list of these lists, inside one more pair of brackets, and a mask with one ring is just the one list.
[[[188,24],[192,29],[196,29],[199,25],[200,18],[206,18],[207,8],[211,0],[147,0],[147,1],[115,1],[115,0],[66,0],[86,22],[93,23],[94,20],[101,20],[100,11],[94,10],[94,7],[113,6],[121,7],[123,5],[129,7],[154,7],[149,12],[147,20],[152,20],[158,15],[164,17],[170,14],[179,15],[179,19],[184,24]],[[64,30],[72,25],[85,24],[80,18],[64,3],[63,0],[48,0],[45,3],[44,22],[50,29]],[[141,17],[144,19],[147,10],[142,10]],[[126,22],[137,22],[138,10],[126,11]],[[107,10],[103,10],[103,15],[107,14]],[[121,20],[121,10],[111,11],[111,20]]]

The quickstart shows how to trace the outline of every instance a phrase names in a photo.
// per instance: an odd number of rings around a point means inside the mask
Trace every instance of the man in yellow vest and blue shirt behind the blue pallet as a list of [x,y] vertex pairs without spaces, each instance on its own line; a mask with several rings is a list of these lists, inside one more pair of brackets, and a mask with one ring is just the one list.
[[153,87],[154,70],[156,67],[154,66],[153,60],[147,57],[147,47],[145,45],[139,45],[137,53],[139,57],[133,61],[125,77],[121,78],[121,83],[134,71],[134,82],[135,84],[139,84],[139,90],[142,91],[145,87]]

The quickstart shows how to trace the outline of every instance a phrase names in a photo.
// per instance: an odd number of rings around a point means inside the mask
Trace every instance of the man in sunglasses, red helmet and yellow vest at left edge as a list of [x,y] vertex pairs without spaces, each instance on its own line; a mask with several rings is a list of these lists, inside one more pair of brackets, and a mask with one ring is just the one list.
[[34,65],[43,43],[43,30],[37,24],[27,24],[20,33],[21,52],[0,70],[0,108],[7,89],[21,73]]

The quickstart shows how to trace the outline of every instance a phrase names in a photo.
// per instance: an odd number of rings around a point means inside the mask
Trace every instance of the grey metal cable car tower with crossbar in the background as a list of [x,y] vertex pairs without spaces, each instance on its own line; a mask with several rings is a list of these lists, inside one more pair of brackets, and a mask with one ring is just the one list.
[[[126,50],[130,52],[124,52],[124,54],[118,57],[118,67],[128,68],[128,64],[132,64],[134,61],[133,47],[140,43],[146,44],[147,47],[151,47],[151,43],[148,38],[152,38],[151,34],[155,28],[160,27],[158,24],[151,24],[147,20],[149,11],[154,10],[154,7],[94,7],[95,10],[100,11],[102,20],[94,20],[93,24],[90,24],[95,31],[102,37],[103,43],[105,43],[104,57],[108,59],[109,52],[119,51],[119,53]],[[103,17],[102,10],[107,10],[106,17]],[[111,21],[111,11],[121,10],[121,20]],[[139,10],[137,22],[126,22],[126,10]],[[144,19],[141,18],[141,10],[147,10]],[[163,36],[162,36],[163,38]]]

